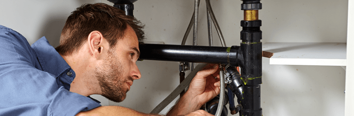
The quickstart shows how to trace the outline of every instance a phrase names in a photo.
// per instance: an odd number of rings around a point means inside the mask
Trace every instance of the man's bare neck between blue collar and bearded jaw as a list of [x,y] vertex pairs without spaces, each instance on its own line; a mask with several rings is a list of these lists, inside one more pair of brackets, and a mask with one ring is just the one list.
[[89,58],[80,55],[62,57],[76,74],[74,81],[70,84],[70,92],[86,97],[101,93],[101,88],[98,88],[100,86],[94,73],[95,66],[89,63]]

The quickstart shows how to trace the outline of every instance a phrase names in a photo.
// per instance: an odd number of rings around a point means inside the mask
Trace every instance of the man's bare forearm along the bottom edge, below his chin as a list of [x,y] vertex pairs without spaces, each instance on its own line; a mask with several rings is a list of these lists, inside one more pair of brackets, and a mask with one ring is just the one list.
[[79,112],[76,116],[161,116],[145,114],[121,106],[101,106],[89,111]]

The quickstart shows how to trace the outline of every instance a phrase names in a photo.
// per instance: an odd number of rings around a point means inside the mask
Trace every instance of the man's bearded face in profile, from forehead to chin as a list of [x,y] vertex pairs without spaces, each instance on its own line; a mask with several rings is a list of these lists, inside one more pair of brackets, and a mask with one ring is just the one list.
[[96,67],[102,96],[115,102],[126,98],[133,80],[141,77],[136,66],[139,55],[138,38],[128,26],[124,38],[117,41],[115,47],[108,51],[107,57]]

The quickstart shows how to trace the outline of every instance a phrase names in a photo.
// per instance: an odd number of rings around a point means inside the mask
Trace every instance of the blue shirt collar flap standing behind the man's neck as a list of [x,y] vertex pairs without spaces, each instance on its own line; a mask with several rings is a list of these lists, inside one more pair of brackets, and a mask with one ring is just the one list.
[[[46,37],[38,39],[31,45],[31,47],[36,52],[43,71],[58,77],[62,73],[66,73],[66,70],[71,68],[64,58],[56,52],[54,47],[49,44]],[[71,78],[70,80],[74,80],[74,78]]]

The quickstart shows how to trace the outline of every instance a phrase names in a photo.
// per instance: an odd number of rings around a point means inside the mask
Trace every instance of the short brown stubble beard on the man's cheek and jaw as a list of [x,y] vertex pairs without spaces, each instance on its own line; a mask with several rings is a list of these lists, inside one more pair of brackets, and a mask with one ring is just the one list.
[[103,63],[96,67],[95,74],[101,86],[102,96],[114,102],[122,102],[126,98],[128,88],[125,88],[127,80],[132,77],[123,77],[122,63],[115,57],[111,49]]

